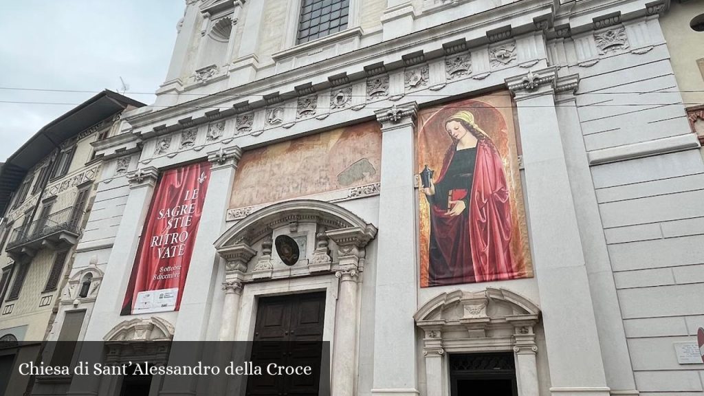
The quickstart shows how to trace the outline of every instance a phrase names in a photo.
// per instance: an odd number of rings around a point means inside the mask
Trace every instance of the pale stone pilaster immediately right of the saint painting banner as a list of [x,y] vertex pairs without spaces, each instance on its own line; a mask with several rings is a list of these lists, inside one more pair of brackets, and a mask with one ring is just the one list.
[[[506,80],[515,94],[520,124],[532,252],[541,309],[547,313],[543,324],[551,392],[584,395],[588,390],[589,395],[606,396],[609,388],[553,97],[556,79],[555,68],[547,68]],[[567,317],[576,319],[565,321]]]

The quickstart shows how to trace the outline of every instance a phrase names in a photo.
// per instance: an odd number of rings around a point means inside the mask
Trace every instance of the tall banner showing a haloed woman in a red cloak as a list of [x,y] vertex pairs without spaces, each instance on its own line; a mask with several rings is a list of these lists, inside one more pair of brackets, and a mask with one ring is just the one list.
[[513,101],[496,92],[420,111],[420,285],[533,276]]

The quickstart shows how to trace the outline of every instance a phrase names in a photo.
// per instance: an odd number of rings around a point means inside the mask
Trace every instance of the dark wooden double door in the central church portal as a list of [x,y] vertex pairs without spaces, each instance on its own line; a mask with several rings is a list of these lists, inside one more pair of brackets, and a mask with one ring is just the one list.
[[318,395],[325,292],[265,297],[259,300],[251,361],[311,366],[313,376],[249,376],[247,395]]

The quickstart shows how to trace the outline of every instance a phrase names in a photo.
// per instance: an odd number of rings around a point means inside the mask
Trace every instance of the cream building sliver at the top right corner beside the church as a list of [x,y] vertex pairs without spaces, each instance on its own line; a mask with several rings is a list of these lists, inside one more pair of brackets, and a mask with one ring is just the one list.
[[704,142],[704,3],[672,1],[662,17],[662,34],[692,131]]

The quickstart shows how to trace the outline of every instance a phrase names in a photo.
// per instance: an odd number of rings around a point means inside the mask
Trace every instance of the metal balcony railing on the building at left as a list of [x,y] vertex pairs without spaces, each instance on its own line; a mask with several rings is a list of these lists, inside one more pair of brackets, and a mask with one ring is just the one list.
[[44,218],[39,218],[32,223],[20,225],[12,230],[10,241],[6,249],[12,249],[28,242],[41,240],[42,238],[60,232],[68,232],[78,235],[80,216],[73,216],[73,206],[50,214]]

